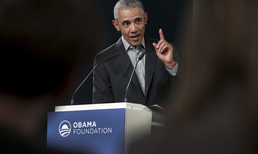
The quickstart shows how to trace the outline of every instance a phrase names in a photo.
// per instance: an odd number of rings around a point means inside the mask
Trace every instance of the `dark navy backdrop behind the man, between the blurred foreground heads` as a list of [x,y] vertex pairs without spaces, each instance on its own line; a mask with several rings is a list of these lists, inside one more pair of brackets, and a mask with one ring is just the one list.
[[[90,3],[95,6],[96,15],[100,16],[100,23],[93,23],[92,29],[97,31],[98,29],[94,29],[95,24],[100,24],[101,28],[104,29],[106,34],[103,34],[106,42],[103,42],[103,49],[111,46],[116,43],[118,39],[121,37],[121,32],[118,32],[112,24],[113,17],[113,8],[116,5],[117,0],[106,1],[106,0],[89,0]],[[186,38],[184,38],[184,28],[189,25],[184,25],[185,18],[189,18],[186,16],[186,12],[191,12],[192,10],[192,1],[191,0],[159,0],[159,1],[149,1],[142,0],[141,1],[145,12],[148,14],[147,25],[145,26],[145,36],[153,39],[159,39],[159,29],[163,30],[163,34],[165,40],[167,42],[171,42],[175,45],[178,50],[181,59],[184,55],[184,42]],[[94,16],[94,14],[92,14]],[[190,16],[191,18],[191,16]],[[87,17],[85,17],[87,20]],[[191,19],[190,19],[191,20]],[[88,51],[89,52],[89,51]],[[97,54],[100,51],[90,51],[95,52]],[[90,71],[93,69],[93,60],[94,57],[91,57],[88,61],[88,66],[81,66],[81,76],[78,77],[77,82],[78,86],[82,83],[82,81],[87,77]],[[82,105],[82,104],[91,104],[92,103],[92,84],[93,75],[91,74],[87,80],[82,84],[82,86],[77,90],[74,95],[74,105]],[[78,87],[77,86],[77,87]],[[74,91],[76,88],[74,89]],[[69,105],[72,99],[71,94],[67,97],[67,101],[61,103],[63,105]]]

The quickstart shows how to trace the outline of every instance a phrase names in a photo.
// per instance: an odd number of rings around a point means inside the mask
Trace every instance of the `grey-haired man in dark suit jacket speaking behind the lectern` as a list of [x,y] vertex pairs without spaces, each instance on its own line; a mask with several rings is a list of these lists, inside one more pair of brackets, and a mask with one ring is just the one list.
[[116,3],[113,25],[122,36],[95,56],[94,66],[113,54],[119,56],[93,72],[93,104],[125,102],[126,97],[127,102],[165,108],[173,100],[181,79],[179,54],[173,44],[165,41],[161,29],[160,40],[144,35],[147,17],[138,0]]

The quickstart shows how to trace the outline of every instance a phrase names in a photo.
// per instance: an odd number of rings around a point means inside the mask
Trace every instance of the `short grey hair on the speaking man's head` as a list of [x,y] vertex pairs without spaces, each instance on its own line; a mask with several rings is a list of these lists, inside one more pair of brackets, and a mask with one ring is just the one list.
[[145,14],[142,2],[138,0],[120,0],[116,3],[116,6],[114,7],[114,18],[117,20],[119,18],[119,10],[131,10],[135,7],[139,7],[142,15]]

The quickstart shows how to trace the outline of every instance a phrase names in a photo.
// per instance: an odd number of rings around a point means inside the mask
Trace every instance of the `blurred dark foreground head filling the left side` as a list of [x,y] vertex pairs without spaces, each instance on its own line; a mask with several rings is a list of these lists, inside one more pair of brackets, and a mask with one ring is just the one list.
[[0,2],[2,132],[38,138],[47,112],[72,95],[78,70],[100,50],[95,12],[84,0]]

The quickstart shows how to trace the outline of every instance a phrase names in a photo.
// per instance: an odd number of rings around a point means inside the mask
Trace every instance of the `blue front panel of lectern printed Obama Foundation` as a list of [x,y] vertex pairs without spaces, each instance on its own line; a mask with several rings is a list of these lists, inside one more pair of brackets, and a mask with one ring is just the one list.
[[48,148],[74,153],[124,153],[125,109],[48,112]]

